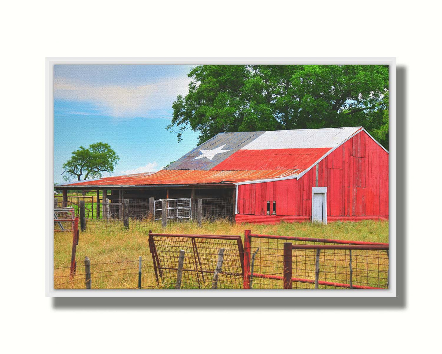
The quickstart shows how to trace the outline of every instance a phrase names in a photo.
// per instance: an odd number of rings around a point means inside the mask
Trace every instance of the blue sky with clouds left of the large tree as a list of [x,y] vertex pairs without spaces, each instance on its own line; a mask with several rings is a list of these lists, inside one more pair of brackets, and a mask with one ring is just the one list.
[[[196,146],[165,128],[172,103],[188,91],[191,65],[55,65],[54,182],[79,146],[107,142],[120,161],[112,175],[151,172]],[[109,176],[109,173],[103,174]]]

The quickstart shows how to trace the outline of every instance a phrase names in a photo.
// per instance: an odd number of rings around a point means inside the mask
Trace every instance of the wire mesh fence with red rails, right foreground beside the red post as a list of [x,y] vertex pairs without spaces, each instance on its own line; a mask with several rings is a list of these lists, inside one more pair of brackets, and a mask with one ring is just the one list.
[[[253,289],[282,289],[284,271],[284,243],[293,243],[293,288],[315,287],[316,250],[323,245],[387,246],[386,243],[359,242],[332,239],[309,239],[275,235],[245,235],[245,251],[256,252],[253,262]],[[317,246],[313,250],[295,249],[296,246]],[[354,287],[386,288],[388,286],[388,251],[352,250],[352,281]],[[349,250],[322,250],[319,256],[320,288],[350,287]],[[251,265],[251,263],[249,263]],[[249,268],[250,269],[250,268]],[[249,272],[250,274],[250,272]],[[246,274],[250,282],[250,275]],[[244,282],[246,282],[244,280]]]

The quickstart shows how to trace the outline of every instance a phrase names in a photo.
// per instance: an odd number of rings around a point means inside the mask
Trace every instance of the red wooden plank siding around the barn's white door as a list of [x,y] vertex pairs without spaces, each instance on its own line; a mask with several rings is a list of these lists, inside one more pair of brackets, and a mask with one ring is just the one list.
[[[319,162],[317,186],[327,187],[329,221],[388,218],[388,158],[388,153],[362,131]],[[268,200],[271,213],[276,201],[278,216],[269,220],[281,219],[279,216],[310,219],[315,184],[313,167],[299,180],[239,185],[238,214],[266,215]]]

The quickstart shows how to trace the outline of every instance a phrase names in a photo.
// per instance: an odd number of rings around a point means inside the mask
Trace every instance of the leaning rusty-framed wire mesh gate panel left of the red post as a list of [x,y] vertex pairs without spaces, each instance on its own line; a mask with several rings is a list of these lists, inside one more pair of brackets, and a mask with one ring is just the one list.
[[244,249],[240,236],[149,232],[149,249],[160,288],[175,287],[179,251],[184,250],[181,289],[210,289],[220,249],[224,249],[224,261],[218,274],[218,289],[241,288]]

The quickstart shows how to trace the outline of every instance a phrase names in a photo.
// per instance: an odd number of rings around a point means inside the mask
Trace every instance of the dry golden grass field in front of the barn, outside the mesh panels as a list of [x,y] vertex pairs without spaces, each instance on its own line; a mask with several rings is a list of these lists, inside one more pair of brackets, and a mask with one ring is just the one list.
[[[142,287],[146,289],[156,288],[152,255],[148,246],[149,228],[156,233],[244,235],[244,230],[251,230],[252,233],[256,234],[388,242],[389,223],[387,221],[367,220],[357,223],[337,222],[328,225],[312,223],[239,225],[225,220],[218,220],[203,222],[202,227],[198,227],[194,222],[187,222],[170,223],[168,227],[162,228],[159,223],[155,223],[147,227],[131,228],[129,231],[122,228],[89,227],[87,231],[80,232],[79,245],[76,247],[77,270],[72,281],[69,279],[72,232],[56,232],[54,235],[54,288],[84,289],[83,261],[85,256],[88,256],[91,262],[92,289],[137,288],[139,256],[143,260]],[[257,269],[260,266],[259,262],[258,257],[255,263]],[[343,258],[343,262],[347,262],[347,260]],[[295,267],[295,263],[293,263],[293,267]],[[306,274],[305,269],[304,273]],[[311,269],[309,269],[308,276],[312,276]],[[257,283],[262,284],[260,286],[262,288],[267,287],[267,283],[271,285],[271,282],[265,281]]]

